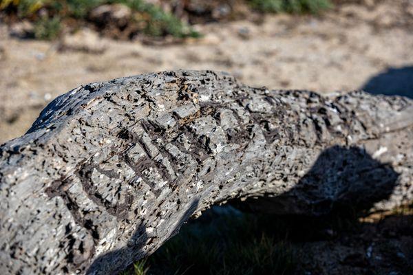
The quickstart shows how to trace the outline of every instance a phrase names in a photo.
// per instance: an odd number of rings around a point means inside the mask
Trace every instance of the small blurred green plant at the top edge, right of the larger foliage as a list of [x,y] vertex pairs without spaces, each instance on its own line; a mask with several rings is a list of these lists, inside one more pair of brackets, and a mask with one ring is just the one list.
[[330,0],[248,0],[261,12],[290,12],[318,14],[332,7]]

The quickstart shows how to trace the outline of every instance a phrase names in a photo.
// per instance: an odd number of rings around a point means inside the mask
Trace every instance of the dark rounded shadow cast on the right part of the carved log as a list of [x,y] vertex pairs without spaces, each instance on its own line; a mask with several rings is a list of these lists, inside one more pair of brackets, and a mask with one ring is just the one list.
[[363,148],[332,146],[288,192],[237,205],[273,214],[361,214],[389,199],[398,177],[390,164],[373,159]]

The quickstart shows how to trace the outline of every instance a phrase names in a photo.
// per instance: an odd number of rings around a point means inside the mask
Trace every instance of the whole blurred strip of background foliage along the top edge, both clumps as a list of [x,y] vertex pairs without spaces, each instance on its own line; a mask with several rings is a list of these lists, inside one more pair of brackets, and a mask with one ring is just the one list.
[[[211,6],[218,6],[211,11]],[[240,8],[242,7],[242,8]],[[112,38],[147,36],[200,37],[193,23],[237,19],[248,12],[288,12],[319,14],[332,7],[330,0],[1,0],[0,12],[6,21],[34,23],[28,37],[56,39],[64,30],[92,25]],[[247,10],[247,11],[246,11]],[[215,14],[213,14],[215,13]],[[116,28],[115,28],[116,27]],[[116,29],[116,30],[115,30]],[[123,32],[124,35],[116,33]]]

